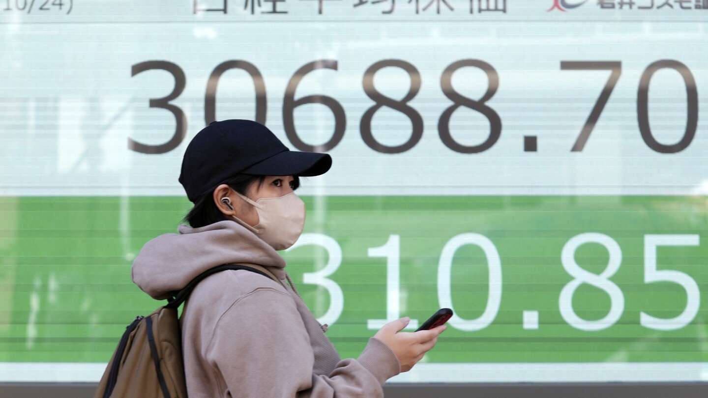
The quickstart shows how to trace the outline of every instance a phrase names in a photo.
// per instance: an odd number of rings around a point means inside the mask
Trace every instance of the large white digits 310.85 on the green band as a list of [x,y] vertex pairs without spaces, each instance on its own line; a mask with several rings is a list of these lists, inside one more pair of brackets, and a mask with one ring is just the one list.
[[[670,331],[681,329],[690,324],[695,319],[700,308],[700,290],[696,281],[680,271],[658,270],[657,269],[657,248],[658,246],[698,246],[700,237],[697,234],[656,234],[644,236],[644,283],[668,282],[676,283],[685,290],[687,295],[686,307],[677,317],[663,319],[653,317],[646,312],[640,313],[640,324],[649,329]],[[578,247],[588,244],[600,244],[607,249],[610,254],[609,262],[605,270],[599,275],[584,270],[576,263],[575,253]],[[344,307],[344,295],[341,287],[331,280],[331,275],[337,271],[342,262],[342,249],[337,241],[324,234],[309,233],[302,237],[288,251],[297,249],[299,246],[318,245],[323,247],[328,254],[326,266],[319,271],[304,273],[305,284],[319,285],[327,290],[330,295],[330,306],[326,313],[318,319],[321,323],[334,324],[341,316]],[[502,294],[502,273],[501,257],[493,242],[481,234],[465,233],[452,237],[442,249],[440,261],[438,262],[438,302],[440,307],[453,308],[451,274],[452,259],[457,250],[465,245],[479,246],[487,258],[489,267],[489,295],[487,297],[484,312],[476,319],[462,319],[459,314],[450,319],[448,324],[462,331],[477,331],[489,326],[499,312]],[[387,322],[391,322],[401,317],[401,289],[400,289],[400,268],[401,268],[401,238],[399,235],[389,235],[389,239],[383,246],[370,248],[367,251],[369,257],[384,257],[387,263],[387,305],[385,319],[369,319],[367,327],[369,329],[379,329]],[[578,234],[572,237],[561,251],[561,263],[569,275],[573,277],[561,290],[559,296],[559,309],[563,319],[576,329],[583,331],[600,331],[617,323],[624,312],[624,295],[622,290],[613,283],[610,278],[619,270],[622,263],[622,250],[615,239],[596,232]],[[573,309],[573,295],[580,285],[587,283],[595,288],[603,290],[610,296],[610,309],[602,319],[587,320],[578,317]],[[411,319],[407,329],[416,329],[418,320]]]

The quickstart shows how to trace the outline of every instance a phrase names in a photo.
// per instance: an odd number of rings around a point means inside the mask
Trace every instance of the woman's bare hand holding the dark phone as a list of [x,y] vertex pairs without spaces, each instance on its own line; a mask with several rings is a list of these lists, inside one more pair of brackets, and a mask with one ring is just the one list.
[[397,333],[408,326],[410,321],[409,317],[396,319],[385,324],[374,335],[394,351],[401,363],[401,372],[411,370],[413,365],[418,363],[418,360],[421,360],[430,351],[430,348],[435,346],[435,343],[438,342],[438,335],[447,329],[447,326],[440,325],[430,330]]

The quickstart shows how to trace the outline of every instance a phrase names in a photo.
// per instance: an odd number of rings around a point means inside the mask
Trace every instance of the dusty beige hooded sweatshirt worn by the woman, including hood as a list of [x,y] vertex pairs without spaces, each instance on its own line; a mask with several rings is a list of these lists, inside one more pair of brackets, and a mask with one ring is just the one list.
[[285,261],[245,227],[222,221],[179,227],[149,241],[133,281],[157,300],[224,263],[264,266],[282,283],[249,271],[202,280],[189,297],[182,337],[190,398],[383,397],[400,372],[394,352],[372,338],[358,359],[341,360],[286,279]]

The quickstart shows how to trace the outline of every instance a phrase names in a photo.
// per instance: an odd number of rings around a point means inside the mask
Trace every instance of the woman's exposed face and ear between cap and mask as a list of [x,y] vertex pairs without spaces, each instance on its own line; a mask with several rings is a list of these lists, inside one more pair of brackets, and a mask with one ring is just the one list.
[[[257,202],[258,199],[262,198],[280,198],[283,195],[292,193],[292,186],[295,183],[295,178],[293,176],[266,176],[263,184],[258,184],[258,181],[253,181],[251,186],[249,186],[248,191],[246,191],[246,197]],[[231,200],[234,210],[229,209],[224,203],[221,202],[222,198],[228,197]],[[243,200],[239,195],[236,195],[234,190],[226,184],[217,186],[214,191],[214,200],[219,210],[229,217],[230,215],[235,215],[241,221],[246,222],[246,224],[255,227],[258,225],[258,212],[256,207],[253,207],[251,203]]]

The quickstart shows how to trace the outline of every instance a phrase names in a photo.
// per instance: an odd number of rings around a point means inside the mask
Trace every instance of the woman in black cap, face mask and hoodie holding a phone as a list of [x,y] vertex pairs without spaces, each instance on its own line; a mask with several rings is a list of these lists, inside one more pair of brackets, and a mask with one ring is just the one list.
[[190,398],[383,397],[384,382],[410,370],[445,330],[396,333],[409,321],[398,319],[359,358],[339,358],[276,251],[302,233],[304,203],[293,193],[299,176],[330,166],[329,155],[289,151],[249,120],[211,123],[190,142],[180,176],[194,203],[190,226],[145,244],[133,280],[164,300],[224,263],[255,264],[275,276],[224,271],[193,290],[181,318]]

